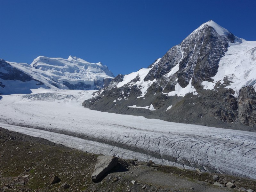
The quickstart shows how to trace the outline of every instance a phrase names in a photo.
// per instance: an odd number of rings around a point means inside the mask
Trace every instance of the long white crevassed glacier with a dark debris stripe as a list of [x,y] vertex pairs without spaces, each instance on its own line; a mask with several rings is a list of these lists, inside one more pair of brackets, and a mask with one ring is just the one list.
[[92,92],[4,95],[0,126],[88,152],[256,179],[256,133],[83,108]]

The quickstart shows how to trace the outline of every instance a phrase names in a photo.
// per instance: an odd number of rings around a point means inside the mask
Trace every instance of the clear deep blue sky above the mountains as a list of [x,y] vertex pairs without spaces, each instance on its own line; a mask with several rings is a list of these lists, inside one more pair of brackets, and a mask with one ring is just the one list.
[[255,0],[0,0],[0,58],[102,62],[117,75],[146,68],[213,20],[256,40]]

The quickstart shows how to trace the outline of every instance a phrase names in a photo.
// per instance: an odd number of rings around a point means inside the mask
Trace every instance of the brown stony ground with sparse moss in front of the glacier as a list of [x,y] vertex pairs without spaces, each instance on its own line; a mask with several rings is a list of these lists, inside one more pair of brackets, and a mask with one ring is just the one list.
[[[111,172],[94,183],[91,174],[97,156],[0,127],[0,191],[236,192],[240,187],[256,191],[256,180],[217,174],[218,182],[233,180],[236,185],[235,189],[220,188],[213,186],[213,173],[156,164],[146,166],[145,162],[127,159],[119,159]],[[49,180],[55,175],[61,181],[50,185]],[[25,184],[17,184],[19,181]],[[65,182],[68,189],[61,187]]]

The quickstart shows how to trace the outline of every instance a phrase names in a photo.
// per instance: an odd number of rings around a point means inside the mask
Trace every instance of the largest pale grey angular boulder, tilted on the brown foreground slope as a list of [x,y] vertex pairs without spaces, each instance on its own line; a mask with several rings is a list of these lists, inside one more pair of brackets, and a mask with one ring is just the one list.
[[92,181],[98,181],[106,172],[116,166],[118,158],[114,156],[98,156],[97,162],[92,173]]

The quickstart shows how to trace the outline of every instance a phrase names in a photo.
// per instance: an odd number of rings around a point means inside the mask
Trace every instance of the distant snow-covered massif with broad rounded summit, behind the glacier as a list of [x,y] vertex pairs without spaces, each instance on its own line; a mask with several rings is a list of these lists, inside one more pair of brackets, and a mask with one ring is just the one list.
[[[114,75],[101,63],[77,57],[39,56],[31,65],[0,60],[0,93],[31,93],[31,89],[98,90]],[[25,84],[26,83],[26,84]]]

